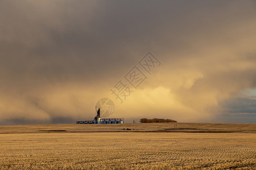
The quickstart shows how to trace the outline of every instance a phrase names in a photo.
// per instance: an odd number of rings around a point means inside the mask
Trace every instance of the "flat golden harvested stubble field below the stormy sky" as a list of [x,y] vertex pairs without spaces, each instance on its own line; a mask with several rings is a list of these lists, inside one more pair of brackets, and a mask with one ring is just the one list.
[[256,169],[256,124],[16,125],[0,138],[0,169]]

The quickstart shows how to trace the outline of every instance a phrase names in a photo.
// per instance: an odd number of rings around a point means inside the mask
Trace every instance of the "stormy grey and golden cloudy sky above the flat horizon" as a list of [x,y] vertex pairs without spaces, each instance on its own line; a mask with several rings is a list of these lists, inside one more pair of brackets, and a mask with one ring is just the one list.
[[102,98],[125,122],[256,123],[256,1],[1,1],[0,21],[0,125]]

